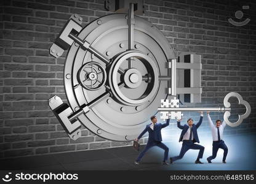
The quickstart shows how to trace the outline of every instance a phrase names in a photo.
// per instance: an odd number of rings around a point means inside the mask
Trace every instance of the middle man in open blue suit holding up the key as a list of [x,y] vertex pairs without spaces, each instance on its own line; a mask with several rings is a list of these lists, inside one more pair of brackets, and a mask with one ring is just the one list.
[[204,116],[202,112],[200,116],[200,120],[196,125],[193,124],[193,120],[191,118],[188,119],[188,125],[180,125],[180,121],[177,121],[178,128],[182,129],[182,134],[180,134],[179,142],[182,141],[182,149],[180,150],[180,155],[170,157],[170,163],[176,161],[177,159],[182,159],[185,155],[186,151],[192,150],[199,150],[198,158],[194,163],[196,164],[203,164],[199,159],[202,158],[204,154],[204,147],[199,144],[194,144],[195,142],[199,143],[198,138],[198,131],[197,129],[202,124],[202,117]]

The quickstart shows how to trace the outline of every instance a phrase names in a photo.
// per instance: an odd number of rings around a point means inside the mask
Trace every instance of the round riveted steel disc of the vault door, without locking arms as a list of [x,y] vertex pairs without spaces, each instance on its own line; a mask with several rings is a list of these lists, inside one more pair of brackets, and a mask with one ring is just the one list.
[[127,14],[115,13],[92,21],[78,37],[87,40],[110,63],[74,43],[66,56],[65,91],[71,109],[108,98],[78,117],[82,125],[111,140],[132,140],[150,123],[166,95],[167,61],[175,58],[162,33],[150,22],[135,17],[134,45],[128,49]]

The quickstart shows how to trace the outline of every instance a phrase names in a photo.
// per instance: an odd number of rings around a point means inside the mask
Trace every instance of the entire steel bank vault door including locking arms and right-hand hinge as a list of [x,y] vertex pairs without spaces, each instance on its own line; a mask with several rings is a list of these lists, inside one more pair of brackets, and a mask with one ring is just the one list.
[[[81,23],[82,17],[72,15],[50,47],[55,58],[68,50],[64,82],[70,105],[58,96],[49,105],[71,139],[81,137],[82,124],[105,139],[132,140],[166,95],[201,102],[201,57],[184,55],[177,62],[159,29],[134,15],[133,3],[128,13],[100,17],[84,28]],[[172,112],[172,118],[180,115]]]

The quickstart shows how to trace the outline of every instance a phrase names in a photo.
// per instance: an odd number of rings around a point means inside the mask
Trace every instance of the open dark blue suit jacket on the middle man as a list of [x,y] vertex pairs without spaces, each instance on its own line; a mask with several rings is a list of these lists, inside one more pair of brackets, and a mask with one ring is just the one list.
[[[198,123],[196,123],[196,125],[193,124],[193,126],[192,126],[192,132],[193,132],[193,136],[194,136],[193,142],[199,143],[198,128],[201,124],[202,124],[202,117],[200,117],[200,120],[198,121]],[[177,121],[177,126],[178,126],[178,128],[182,129],[182,133],[180,134],[180,139],[178,140],[178,142],[180,142],[180,141],[182,141],[184,134],[186,133],[186,131],[188,131],[188,128],[190,126],[180,125],[180,121]]]

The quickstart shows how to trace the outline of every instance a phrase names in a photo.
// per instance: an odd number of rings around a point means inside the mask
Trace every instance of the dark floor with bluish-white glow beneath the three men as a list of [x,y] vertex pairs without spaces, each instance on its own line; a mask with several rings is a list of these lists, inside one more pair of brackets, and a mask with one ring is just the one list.
[[[204,164],[194,164],[198,150],[189,150],[183,159],[169,166],[162,166],[164,151],[151,148],[139,166],[134,160],[138,152],[132,147],[109,148],[104,150],[77,151],[53,155],[29,156],[22,158],[0,159],[1,170],[34,171],[78,171],[78,170],[256,170],[256,134],[226,136],[228,146],[226,164],[222,163],[223,150],[218,151],[212,164],[207,163],[212,145],[210,137],[200,137],[204,145]],[[210,144],[209,144],[210,143]],[[178,155],[182,143],[168,142],[169,156]],[[206,146],[207,145],[207,146]],[[142,148],[144,145],[142,146]]]

